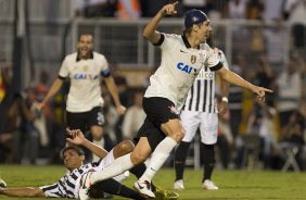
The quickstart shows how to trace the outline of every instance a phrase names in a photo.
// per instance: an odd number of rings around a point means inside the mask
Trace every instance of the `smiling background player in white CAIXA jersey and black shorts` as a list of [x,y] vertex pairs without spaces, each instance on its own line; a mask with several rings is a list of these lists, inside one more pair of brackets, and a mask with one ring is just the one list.
[[[103,99],[101,96],[101,77],[104,78],[118,114],[124,114],[126,108],[122,105],[114,79],[110,73],[107,60],[103,54],[94,52],[91,35],[79,36],[77,52],[66,55],[59,77],[52,84],[49,92],[38,104],[38,109],[53,97],[62,87],[64,79],[69,78],[71,88],[66,102],[66,125],[72,129],[90,128],[93,142],[102,146],[103,136]],[[95,160],[98,158],[95,157]]]

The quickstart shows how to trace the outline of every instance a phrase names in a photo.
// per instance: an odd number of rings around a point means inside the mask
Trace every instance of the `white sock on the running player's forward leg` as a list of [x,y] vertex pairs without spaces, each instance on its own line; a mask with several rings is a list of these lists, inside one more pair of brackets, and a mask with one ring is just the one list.
[[163,166],[176,145],[177,141],[170,137],[166,137],[163,141],[161,141],[152,154],[150,164],[146,166],[144,174],[139,178],[139,180],[148,180],[151,183],[152,178]]

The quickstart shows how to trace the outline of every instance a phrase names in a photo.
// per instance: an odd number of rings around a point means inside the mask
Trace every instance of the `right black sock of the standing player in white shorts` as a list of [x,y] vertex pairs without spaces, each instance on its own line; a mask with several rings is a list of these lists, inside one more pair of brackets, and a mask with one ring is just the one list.
[[215,150],[214,150],[214,145],[205,145],[201,143],[202,146],[202,155],[204,160],[204,174],[203,174],[203,179],[202,183],[205,179],[211,179],[214,165],[215,165]]

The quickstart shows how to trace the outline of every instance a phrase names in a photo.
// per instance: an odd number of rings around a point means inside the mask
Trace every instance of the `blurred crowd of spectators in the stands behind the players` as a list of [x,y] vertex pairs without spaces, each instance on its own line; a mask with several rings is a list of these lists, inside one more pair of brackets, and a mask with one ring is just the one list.
[[[151,17],[167,2],[169,1],[76,0],[75,17]],[[177,17],[182,17],[190,8],[201,9],[211,20],[216,21],[233,18],[294,24],[291,30],[292,46],[284,65],[281,62],[285,57],[282,50],[284,36],[279,34],[278,26],[270,32],[253,32],[252,54],[233,48],[235,53],[230,70],[275,92],[268,95],[266,101],[258,102],[248,91],[230,86],[229,112],[219,116],[217,166],[282,170],[290,157],[294,157],[297,166],[291,162],[288,170],[306,170],[306,1],[181,0]],[[255,66],[253,68],[246,64],[250,59]],[[111,62],[110,67],[118,86],[120,101],[128,110],[124,116],[117,115],[102,83],[106,150],[123,139],[132,139],[138,132],[145,117],[141,101],[149,84],[148,76],[148,82],[131,87],[124,73],[117,70],[116,62]],[[0,101],[7,103],[8,109],[3,115],[1,113],[0,163],[61,163],[59,154],[65,146],[65,95],[69,83],[42,112],[38,112],[35,104],[43,99],[52,83],[48,72],[40,72],[39,82],[22,92],[13,93],[12,100],[7,102],[12,76],[10,67],[1,67]],[[90,134],[87,135],[90,137]]]

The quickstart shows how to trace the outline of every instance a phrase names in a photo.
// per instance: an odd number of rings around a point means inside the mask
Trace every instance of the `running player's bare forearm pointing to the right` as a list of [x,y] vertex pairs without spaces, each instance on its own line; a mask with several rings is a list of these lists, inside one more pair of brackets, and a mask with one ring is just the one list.
[[240,77],[234,72],[231,72],[225,67],[221,67],[219,71],[217,71],[217,73],[221,76],[222,79],[227,80],[228,83],[234,84],[237,86],[240,86],[240,87],[243,87],[245,89],[253,91],[254,93],[257,95],[258,99],[264,100],[266,92],[273,92],[272,90],[268,88],[258,87],[258,86],[251,84],[250,82],[246,82],[245,79]]

